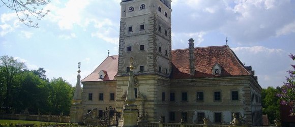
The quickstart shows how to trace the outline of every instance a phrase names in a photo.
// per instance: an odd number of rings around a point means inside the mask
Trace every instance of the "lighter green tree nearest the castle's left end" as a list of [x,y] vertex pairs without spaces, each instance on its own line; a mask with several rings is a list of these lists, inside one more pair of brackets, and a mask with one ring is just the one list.
[[50,111],[54,115],[70,114],[74,88],[63,78],[53,78],[49,82]]

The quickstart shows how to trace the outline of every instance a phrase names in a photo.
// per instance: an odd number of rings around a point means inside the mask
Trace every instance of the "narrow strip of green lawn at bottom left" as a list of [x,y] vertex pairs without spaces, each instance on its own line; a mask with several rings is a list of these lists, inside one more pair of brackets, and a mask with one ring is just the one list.
[[35,124],[35,125],[45,125],[45,124],[65,124],[56,122],[41,122],[41,121],[26,121],[26,120],[6,120],[0,119],[0,126],[9,126],[9,124]]

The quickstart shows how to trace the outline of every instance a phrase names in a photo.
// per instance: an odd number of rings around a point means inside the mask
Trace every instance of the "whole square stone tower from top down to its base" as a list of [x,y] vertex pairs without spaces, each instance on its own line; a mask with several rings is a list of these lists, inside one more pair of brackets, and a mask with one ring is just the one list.
[[[142,120],[168,116],[171,74],[171,1],[122,0],[116,109],[126,105],[130,61],[135,76],[135,105]],[[166,95],[166,96],[165,96]],[[164,101],[163,101],[164,100]]]

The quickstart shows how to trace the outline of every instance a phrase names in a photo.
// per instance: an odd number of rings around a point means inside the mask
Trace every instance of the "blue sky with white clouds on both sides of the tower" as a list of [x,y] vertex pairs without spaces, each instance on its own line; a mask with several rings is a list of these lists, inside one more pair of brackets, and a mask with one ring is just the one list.
[[[0,3],[0,56],[44,68],[73,86],[119,48],[120,0],[54,0],[49,14],[27,27]],[[172,49],[226,45],[252,66],[262,88],[282,86],[295,62],[295,1],[172,0]]]

